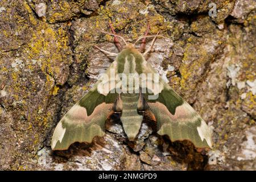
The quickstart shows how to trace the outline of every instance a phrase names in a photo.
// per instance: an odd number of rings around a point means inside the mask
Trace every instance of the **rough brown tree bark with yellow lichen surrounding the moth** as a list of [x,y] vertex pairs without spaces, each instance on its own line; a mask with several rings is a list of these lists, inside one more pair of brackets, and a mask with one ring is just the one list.
[[[0,169],[256,169],[254,0],[2,0],[0,15]],[[117,52],[109,20],[133,41],[147,23],[161,31],[148,61],[212,127],[211,150],[146,121],[127,142],[109,121],[105,137],[52,152],[57,122],[110,65],[93,45]]]

